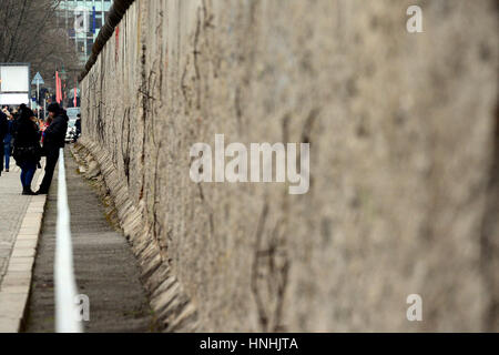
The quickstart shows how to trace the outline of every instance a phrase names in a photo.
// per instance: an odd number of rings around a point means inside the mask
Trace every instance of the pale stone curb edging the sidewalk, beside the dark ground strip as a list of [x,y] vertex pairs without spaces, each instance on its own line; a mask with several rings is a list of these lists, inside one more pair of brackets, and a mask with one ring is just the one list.
[[[37,184],[42,179],[43,173],[39,173]],[[26,321],[45,203],[47,195],[31,197],[16,239],[7,273],[0,285],[0,333],[19,333]]]

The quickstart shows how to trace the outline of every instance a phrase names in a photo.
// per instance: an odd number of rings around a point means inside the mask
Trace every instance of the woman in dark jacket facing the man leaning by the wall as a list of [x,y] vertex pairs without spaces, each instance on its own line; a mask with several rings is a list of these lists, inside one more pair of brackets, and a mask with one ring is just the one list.
[[14,132],[13,159],[21,168],[21,183],[23,195],[34,195],[31,191],[37,165],[40,162],[40,133],[32,121],[33,111],[27,106],[21,108]]

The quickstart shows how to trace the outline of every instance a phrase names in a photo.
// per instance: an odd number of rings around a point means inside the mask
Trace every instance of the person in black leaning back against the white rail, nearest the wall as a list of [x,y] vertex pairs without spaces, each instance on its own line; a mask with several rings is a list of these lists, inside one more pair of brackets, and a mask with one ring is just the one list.
[[58,103],[51,103],[48,108],[52,123],[47,128],[43,138],[43,151],[47,154],[45,174],[37,194],[48,194],[52,183],[53,172],[59,160],[59,150],[64,148],[65,133],[68,131],[68,114]]

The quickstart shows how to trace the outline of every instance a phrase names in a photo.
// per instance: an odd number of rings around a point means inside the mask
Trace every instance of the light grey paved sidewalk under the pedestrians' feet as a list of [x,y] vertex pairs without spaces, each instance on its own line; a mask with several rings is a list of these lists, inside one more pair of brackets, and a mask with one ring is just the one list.
[[[42,170],[37,170],[32,189]],[[6,275],[12,247],[21,229],[28,205],[32,196],[21,195],[21,170],[11,161],[10,172],[2,172],[0,176],[0,284]]]

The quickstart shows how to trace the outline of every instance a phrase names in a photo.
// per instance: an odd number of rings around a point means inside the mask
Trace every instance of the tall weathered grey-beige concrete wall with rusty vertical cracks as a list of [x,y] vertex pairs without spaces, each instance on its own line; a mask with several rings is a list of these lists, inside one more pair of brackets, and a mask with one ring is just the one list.
[[[135,1],[82,143],[154,300],[174,275],[200,331],[498,331],[497,33],[493,0]],[[309,193],[193,183],[215,133],[309,141]]]

